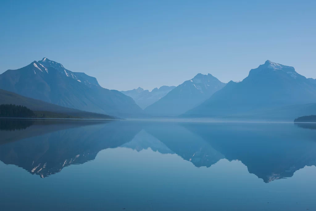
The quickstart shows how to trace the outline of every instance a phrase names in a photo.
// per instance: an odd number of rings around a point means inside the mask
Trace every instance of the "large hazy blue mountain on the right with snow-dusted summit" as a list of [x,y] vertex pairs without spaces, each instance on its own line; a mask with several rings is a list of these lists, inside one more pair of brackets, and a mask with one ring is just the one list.
[[230,81],[222,90],[184,116],[263,114],[263,109],[271,111],[284,106],[315,102],[315,83],[298,74],[293,67],[267,60],[252,69],[243,81]]

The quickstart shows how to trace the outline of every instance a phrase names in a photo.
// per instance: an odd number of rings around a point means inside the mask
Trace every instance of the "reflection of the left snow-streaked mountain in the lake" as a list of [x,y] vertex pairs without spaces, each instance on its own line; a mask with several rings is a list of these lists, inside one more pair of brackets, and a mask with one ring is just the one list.
[[[127,122],[123,121],[57,123],[53,128],[52,125],[30,127],[32,130],[18,137],[11,133],[12,141],[0,145],[0,160],[44,178],[70,164],[93,160],[101,150],[118,147],[141,130],[138,125],[126,125]],[[122,127],[126,128],[124,133],[119,130]],[[28,136],[28,133],[39,135],[18,140],[20,136]]]

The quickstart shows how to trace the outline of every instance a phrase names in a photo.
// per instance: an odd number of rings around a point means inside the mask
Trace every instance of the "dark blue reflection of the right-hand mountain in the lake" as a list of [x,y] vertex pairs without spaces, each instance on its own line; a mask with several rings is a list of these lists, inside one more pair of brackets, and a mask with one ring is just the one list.
[[283,123],[184,124],[228,160],[240,160],[268,183],[316,164],[315,133]]

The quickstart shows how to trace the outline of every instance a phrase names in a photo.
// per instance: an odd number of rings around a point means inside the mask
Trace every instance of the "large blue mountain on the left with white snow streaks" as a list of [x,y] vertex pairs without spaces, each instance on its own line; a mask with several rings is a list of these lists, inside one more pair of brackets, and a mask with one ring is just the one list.
[[85,73],[72,72],[44,58],[0,75],[0,88],[60,106],[90,112],[127,116],[142,109],[117,90],[102,88]]

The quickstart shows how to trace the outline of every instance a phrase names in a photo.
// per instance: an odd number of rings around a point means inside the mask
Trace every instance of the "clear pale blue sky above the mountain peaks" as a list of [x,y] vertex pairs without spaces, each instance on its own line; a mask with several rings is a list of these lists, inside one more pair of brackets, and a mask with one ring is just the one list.
[[7,1],[0,73],[43,57],[108,89],[239,81],[267,59],[316,78],[316,1]]

